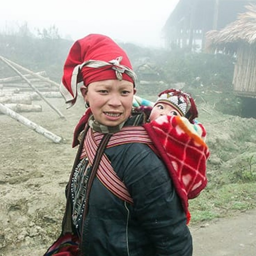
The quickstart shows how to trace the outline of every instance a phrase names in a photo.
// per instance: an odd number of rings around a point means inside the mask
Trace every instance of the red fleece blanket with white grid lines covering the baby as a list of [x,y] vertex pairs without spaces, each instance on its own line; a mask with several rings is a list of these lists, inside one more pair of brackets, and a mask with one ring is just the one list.
[[[199,126],[205,137],[203,125]],[[207,145],[179,116],[162,116],[144,127],[165,162],[186,209],[188,199],[197,197],[207,185],[206,163],[210,156]]]

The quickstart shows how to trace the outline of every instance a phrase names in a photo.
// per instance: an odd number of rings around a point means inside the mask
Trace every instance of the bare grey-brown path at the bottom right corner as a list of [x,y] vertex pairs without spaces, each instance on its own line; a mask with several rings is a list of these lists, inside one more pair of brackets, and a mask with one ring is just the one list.
[[255,256],[256,210],[191,227],[195,256]]

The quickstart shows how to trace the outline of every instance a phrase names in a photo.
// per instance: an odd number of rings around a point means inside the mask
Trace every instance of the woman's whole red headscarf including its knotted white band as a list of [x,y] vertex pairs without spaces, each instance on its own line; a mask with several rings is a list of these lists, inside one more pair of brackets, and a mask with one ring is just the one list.
[[124,79],[135,86],[136,74],[125,51],[101,34],[89,34],[77,40],[70,48],[60,85],[66,103],[75,104],[78,83],[88,86],[108,79]]

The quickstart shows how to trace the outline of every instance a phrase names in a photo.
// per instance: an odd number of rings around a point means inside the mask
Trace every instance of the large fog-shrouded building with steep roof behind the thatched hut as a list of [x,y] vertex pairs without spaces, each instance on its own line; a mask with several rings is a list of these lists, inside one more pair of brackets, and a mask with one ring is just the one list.
[[162,29],[165,47],[201,51],[208,31],[223,29],[250,3],[256,0],[179,0]]

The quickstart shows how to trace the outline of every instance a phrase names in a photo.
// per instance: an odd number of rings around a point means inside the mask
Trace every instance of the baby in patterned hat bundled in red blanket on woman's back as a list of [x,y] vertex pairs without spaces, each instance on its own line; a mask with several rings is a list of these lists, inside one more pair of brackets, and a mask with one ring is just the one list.
[[206,162],[210,156],[206,131],[193,98],[181,90],[169,89],[158,95],[145,130],[156,152],[165,162],[187,214],[188,199],[197,197],[207,185]]

